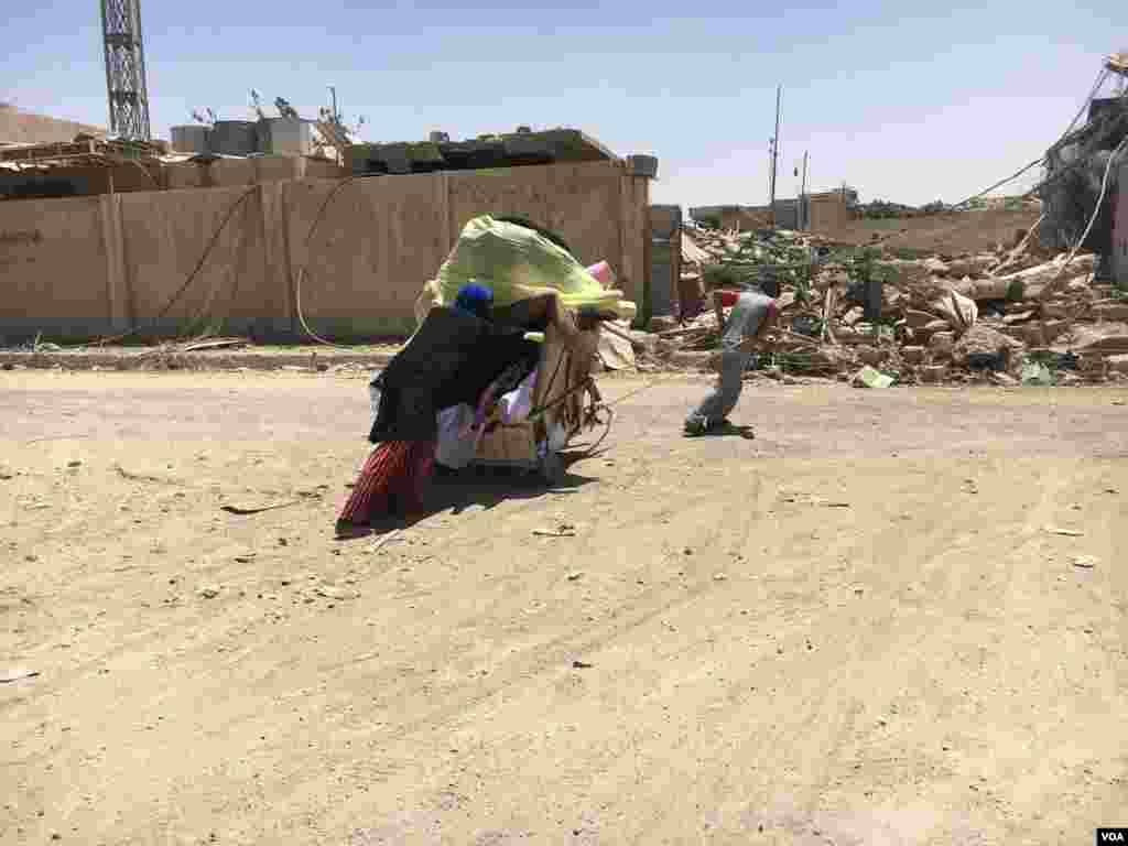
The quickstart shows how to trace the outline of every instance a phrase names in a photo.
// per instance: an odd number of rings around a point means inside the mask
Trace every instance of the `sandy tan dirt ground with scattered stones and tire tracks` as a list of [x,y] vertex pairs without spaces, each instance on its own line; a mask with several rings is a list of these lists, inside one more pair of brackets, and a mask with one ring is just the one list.
[[0,843],[1128,823],[1128,391],[757,387],[684,439],[703,389],[338,541],[362,380],[0,373]]

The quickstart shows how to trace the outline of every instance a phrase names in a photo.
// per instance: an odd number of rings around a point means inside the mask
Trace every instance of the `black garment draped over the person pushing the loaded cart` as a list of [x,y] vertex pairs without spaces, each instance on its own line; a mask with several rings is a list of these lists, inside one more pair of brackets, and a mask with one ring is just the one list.
[[536,367],[540,345],[521,332],[501,333],[452,308],[432,308],[418,332],[373,381],[380,406],[369,433],[382,441],[433,441],[440,409],[476,405],[482,391],[518,361]]

